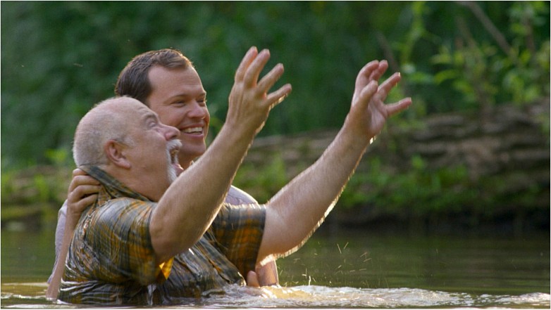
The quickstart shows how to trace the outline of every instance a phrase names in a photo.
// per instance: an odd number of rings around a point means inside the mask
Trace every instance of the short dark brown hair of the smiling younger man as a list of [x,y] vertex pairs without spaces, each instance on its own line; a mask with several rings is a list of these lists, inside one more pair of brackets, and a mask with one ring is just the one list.
[[135,56],[118,75],[116,96],[129,96],[149,106],[147,97],[151,94],[149,70],[160,66],[168,69],[193,67],[192,62],[180,51],[160,49]]

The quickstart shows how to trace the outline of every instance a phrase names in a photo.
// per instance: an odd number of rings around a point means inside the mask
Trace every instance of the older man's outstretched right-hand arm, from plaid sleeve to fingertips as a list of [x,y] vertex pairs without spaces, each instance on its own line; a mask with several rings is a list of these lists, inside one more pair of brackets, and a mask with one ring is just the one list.
[[260,261],[270,254],[288,253],[307,240],[335,205],[371,138],[383,129],[388,117],[411,104],[411,98],[404,98],[385,105],[389,91],[401,78],[395,73],[379,85],[387,67],[385,61],[375,60],[361,68],[338,136],[318,161],[268,202]]

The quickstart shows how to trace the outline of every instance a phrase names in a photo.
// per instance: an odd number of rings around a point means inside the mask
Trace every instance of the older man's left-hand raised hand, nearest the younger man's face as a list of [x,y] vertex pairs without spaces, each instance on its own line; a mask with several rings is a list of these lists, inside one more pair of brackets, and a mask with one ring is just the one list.
[[291,92],[291,85],[285,84],[278,90],[268,93],[283,75],[283,65],[278,64],[259,81],[259,75],[268,60],[270,52],[260,53],[256,47],[247,51],[235,72],[235,82],[229,97],[226,123],[231,126],[247,126],[247,130],[258,132],[266,122],[271,108],[283,101]]

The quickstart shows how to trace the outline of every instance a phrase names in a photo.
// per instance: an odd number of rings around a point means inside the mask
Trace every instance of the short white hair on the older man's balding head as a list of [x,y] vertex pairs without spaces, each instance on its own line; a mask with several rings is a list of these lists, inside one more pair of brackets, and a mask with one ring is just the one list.
[[128,106],[120,104],[124,100],[133,101],[128,97],[109,98],[94,105],[82,117],[73,140],[73,159],[77,167],[107,164],[104,144],[109,140],[126,146],[134,144],[129,136],[128,122],[125,122]]

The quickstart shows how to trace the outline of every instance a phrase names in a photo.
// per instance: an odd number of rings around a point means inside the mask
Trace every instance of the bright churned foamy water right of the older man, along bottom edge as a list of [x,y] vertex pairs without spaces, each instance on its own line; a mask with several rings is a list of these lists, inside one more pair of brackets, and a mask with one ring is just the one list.
[[[185,306],[181,304],[180,306]],[[292,288],[230,286],[225,295],[203,299],[195,306],[237,308],[426,308],[426,307],[541,307],[550,295],[471,295],[411,288],[363,289],[304,285]]]

